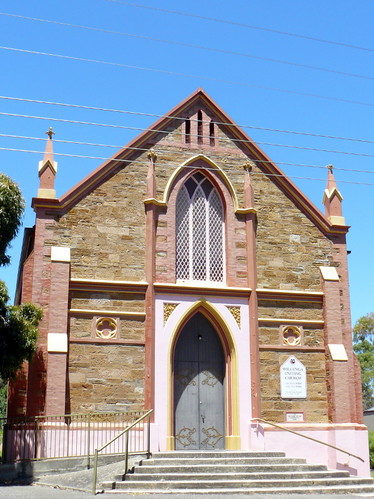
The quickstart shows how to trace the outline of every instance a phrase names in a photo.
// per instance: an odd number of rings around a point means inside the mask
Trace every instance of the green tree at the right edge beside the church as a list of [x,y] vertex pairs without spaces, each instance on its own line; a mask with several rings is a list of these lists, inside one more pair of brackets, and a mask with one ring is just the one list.
[[364,410],[374,405],[374,313],[364,315],[353,328],[353,350],[361,366]]

